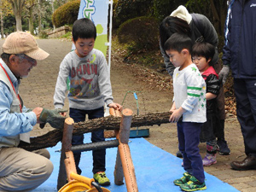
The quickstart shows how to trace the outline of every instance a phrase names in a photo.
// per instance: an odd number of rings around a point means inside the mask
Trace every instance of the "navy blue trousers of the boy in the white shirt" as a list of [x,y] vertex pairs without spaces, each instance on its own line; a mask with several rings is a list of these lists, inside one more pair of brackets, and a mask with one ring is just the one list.
[[177,122],[177,138],[178,148],[183,154],[184,170],[203,183],[205,173],[198,148],[201,125],[201,123]]

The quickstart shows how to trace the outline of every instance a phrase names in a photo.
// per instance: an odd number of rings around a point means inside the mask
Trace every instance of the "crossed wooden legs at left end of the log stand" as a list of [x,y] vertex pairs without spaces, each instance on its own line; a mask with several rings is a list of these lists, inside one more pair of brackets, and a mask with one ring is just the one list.
[[73,159],[73,152],[71,151],[71,141],[73,136],[73,119],[65,119],[64,128],[63,128],[63,137],[61,144],[61,160],[59,168],[59,176],[57,189],[61,189],[63,185],[71,180],[70,172],[77,173],[76,166]]

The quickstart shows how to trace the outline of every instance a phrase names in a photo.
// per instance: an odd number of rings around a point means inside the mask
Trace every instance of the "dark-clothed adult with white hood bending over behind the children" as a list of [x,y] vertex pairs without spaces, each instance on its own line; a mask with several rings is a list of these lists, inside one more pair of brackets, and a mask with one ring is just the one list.
[[[174,66],[166,55],[163,47],[166,40],[172,36],[175,32],[183,32],[189,35],[192,42],[195,44],[196,41],[205,41],[212,44],[215,47],[215,54],[212,58],[213,67],[216,73],[221,70],[221,65],[218,62],[218,34],[212,26],[210,20],[207,19],[205,15],[200,14],[189,14],[189,11],[184,6],[179,6],[176,10],[172,12],[170,16],[167,16],[162,20],[160,24],[160,50],[164,57],[167,72],[172,76],[174,71]],[[216,128],[218,130],[218,146],[219,154],[230,154],[230,148],[224,139],[224,91],[221,86],[218,94],[218,113],[220,119],[220,127]]]

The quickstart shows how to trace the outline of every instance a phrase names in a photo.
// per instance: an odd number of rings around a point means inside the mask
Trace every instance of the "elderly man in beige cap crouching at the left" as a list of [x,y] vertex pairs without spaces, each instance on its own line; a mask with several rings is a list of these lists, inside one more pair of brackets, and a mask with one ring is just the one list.
[[[20,79],[26,77],[48,53],[38,48],[36,40],[26,32],[13,32],[3,44],[0,59],[0,191],[29,191],[50,176],[53,165],[47,149],[29,152],[17,146],[29,143],[29,132],[37,123],[55,128],[64,117],[58,111],[28,109],[19,95]],[[55,114],[55,122],[52,117]]]

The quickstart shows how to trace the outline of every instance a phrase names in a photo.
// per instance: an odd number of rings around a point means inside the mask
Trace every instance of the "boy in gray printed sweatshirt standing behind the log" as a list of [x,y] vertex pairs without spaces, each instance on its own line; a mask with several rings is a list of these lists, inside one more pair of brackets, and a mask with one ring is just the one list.
[[[112,88],[108,64],[102,51],[94,49],[96,40],[96,26],[83,18],[73,23],[72,41],[75,50],[68,53],[61,62],[60,72],[55,85],[55,108],[63,108],[67,90],[67,79],[70,80],[70,90],[67,94],[69,101],[69,115],[74,122],[101,118],[104,116],[104,102],[109,108],[121,110],[118,103],[113,102]],[[63,113],[62,115],[65,115]],[[104,131],[91,132],[91,142],[105,141]],[[72,144],[79,145],[84,142],[84,134],[73,136]],[[81,152],[74,152],[77,172],[81,174],[79,161]],[[101,185],[109,185],[106,177],[105,158],[106,149],[94,150],[93,177]]]

